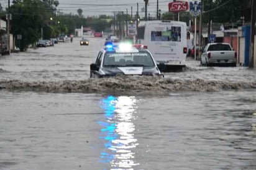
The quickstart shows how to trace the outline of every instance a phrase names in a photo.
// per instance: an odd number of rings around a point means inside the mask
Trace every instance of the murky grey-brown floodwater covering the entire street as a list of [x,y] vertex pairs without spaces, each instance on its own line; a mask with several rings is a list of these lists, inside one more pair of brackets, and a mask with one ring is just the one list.
[[89,79],[104,38],[0,56],[0,169],[256,169],[256,71]]

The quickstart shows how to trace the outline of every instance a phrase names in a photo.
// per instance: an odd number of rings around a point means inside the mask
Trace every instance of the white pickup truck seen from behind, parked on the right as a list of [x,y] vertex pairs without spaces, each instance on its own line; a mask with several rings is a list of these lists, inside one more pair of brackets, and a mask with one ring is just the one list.
[[237,53],[229,43],[208,43],[201,55],[201,66],[236,66]]

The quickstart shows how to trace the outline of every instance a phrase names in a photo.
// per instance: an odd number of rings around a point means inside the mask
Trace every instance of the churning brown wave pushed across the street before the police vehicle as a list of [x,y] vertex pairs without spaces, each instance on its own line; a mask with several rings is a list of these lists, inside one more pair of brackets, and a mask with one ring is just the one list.
[[45,92],[174,92],[256,89],[256,81],[209,81],[155,76],[117,76],[84,81],[0,81],[0,89]]

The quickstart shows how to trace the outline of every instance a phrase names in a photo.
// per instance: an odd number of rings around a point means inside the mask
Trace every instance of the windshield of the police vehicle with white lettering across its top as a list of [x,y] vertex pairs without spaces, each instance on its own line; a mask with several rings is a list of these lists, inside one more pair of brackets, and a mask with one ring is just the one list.
[[103,66],[154,66],[152,56],[147,51],[139,53],[107,52],[104,56]]

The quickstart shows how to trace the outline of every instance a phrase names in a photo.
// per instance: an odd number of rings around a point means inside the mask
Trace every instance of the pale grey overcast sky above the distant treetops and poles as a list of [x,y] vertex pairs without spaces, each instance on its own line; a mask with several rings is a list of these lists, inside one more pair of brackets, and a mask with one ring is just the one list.
[[[12,0],[10,0],[12,2]],[[78,14],[77,10],[83,10],[83,16],[99,16],[101,14],[114,15],[114,12],[124,11],[134,16],[137,12],[137,3],[139,3],[139,15],[145,15],[142,8],[145,6],[144,0],[58,0],[60,5],[57,7],[61,12],[69,14]],[[172,0],[158,0],[158,9],[161,12],[168,11],[168,3]],[[0,0],[2,7],[8,6],[8,0]],[[150,16],[157,14],[157,0],[149,0],[148,12]]]

